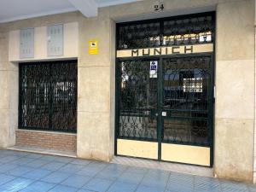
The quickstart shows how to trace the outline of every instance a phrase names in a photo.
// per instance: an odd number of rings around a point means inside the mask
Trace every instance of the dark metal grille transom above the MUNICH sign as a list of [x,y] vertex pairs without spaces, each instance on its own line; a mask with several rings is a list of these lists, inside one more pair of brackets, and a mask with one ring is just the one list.
[[117,49],[213,43],[214,26],[212,13],[121,23]]

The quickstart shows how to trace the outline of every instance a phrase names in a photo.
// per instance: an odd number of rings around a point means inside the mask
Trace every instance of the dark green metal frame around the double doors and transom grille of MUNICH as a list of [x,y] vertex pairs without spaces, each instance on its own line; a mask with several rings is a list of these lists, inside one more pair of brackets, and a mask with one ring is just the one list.
[[[181,58],[181,57],[189,57],[189,56],[209,56],[211,57],[211,65],[210,65],[210,71],[211,71],[211,89],[210,89],[210,95],[212,98],[212,102],[210,102],[209,104],[209,135],[210,137],[210,167],[213,166],[213,162],[214,162],[214,138],[215,138],[215,134],[214,134],[214,123],[215,123],[215,68],[216,68],[216,61],[215,61],[215,50],[216,50],[216,41],[215,41],[215,34],[216,34],[216,12],[215,11],[210,11],[210,12],[202,12],[202,13],[196,13],[196,14],[190,14],[190,15],[177,15],[177,16],[171,16],[171,17],[162,17],[162,18],[156,18],[156,19],[149,19],[149,20],[135,20],[135,21],[128,21],[128,22],[121,22],[121,23],[116,23],[116,49],[115,49],[115,54],[117,53],[118,50],[122,50],[122,49],[118,49],[118,39],[119,39],[119,26],[123,26],[127,23],[134,25],[134,24],[140,24],[140,23],[149,23],[152,21],[160,21],[163,22],[165,20],[172,20],[172,19],[184,19],[184,18],[189,18],[189,17],[193,17],[193,16],[203,16],[203,15],[211,15],[212,16],[212,25],[213,30],[212,33],[214,34],[214,39],[213,39],[213,49],[212,52],[207,52],[207,53],[193,53],[193,54],[177,54],[177,55],[152,55],[152,56],[137,56],[137,57],[122,57],[122,58],[118,58],[117,55],[115,55],[115,107],[114,107],[114,155],[116,156],[125,156],[125,155],[120,155],[117,154],[117,141],[118,141],[118,129],[119,129],[119,102],[120,102],[120,97],[119,97],[119,79],[117,79],[117,77],[119,77],[119,67],[118,67],[118,63],[119,61],[125,61],[125,60],[139,60],[139,59],[149,59],[154,61],[154,59],[158,60],[158,61],[162,61],[165,58]],[[160,26],[161,30],[163,30],[163,26]],[[186,44],[186,45],[194,45],[194,44]],[[134,48],[131,48],[134,49]],[[143,49],[143,48],[139,48],[139,49]],[[160,65],[162,67],[162,65]],[[158,70],[158,73],[160,72],[161,69]],[[159,74],[158,74],[158,79],[159,79]],[[158,84],[159,84],[159,80],[158,80]],[[159,85],[158,85],[158,89]],[[158,94],[160,94],[158,91]],[[159,99],[159,96],[158,96]],[[158,102],[159,105],[159,102]],[[159,110],[159,108],[158,108]],[[160,115],[158,115],[158,119],[160,119]],[[160,120],[158,120],[157,126],[161,126],[163,122],[159,122]],[[162,121],[162,120],[161,120]],[[157,127],[157,130],[161,131],[163,129],[159,129]],[[162,142],[159,141],[159,134],[157,137],[157,143],[158,143],[158,160],[161,160],[161,144]],[[142,141],[146,141],[146,140],[142,140]],[[184,144],[184,145],[188,145],[188,144]],[[191,145],[190,145],[191,146]],[[195,146],[195,145],[194,145]],[[131,157],[131,156],[129,156]],[[146,158],[141,158],[141,157],[136,157],[139,159],[146,159]],[[148,158],[146,159],[148,160]],[[164,160],[161,160],[164,161]],[[170,161],[167,161],[170,162]],[[172,162],[172,161],[171,161]],[[179,163],[179,162],[175,162],[175,163]],[[191,164],[186,164],[186,163],[179,163],[179,164],[185,164],[185,165],[191,165]],[[198,165],[195,165],[198,166]],[[208,167],[208,166],[207,166]]]

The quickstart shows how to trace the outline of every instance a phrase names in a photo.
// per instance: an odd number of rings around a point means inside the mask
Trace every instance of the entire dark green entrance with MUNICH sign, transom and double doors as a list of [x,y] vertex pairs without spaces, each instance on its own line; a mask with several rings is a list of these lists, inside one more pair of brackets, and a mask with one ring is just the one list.
[[117,26],[115,154],[212,166],[214,13]]

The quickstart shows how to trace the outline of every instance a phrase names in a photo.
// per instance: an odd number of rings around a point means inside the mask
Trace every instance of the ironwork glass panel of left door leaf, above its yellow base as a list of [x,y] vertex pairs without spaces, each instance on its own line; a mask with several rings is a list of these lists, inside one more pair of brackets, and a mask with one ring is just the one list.
[[149,79],[149,61],[119,62],[120,138],[157,139],[157,79]]

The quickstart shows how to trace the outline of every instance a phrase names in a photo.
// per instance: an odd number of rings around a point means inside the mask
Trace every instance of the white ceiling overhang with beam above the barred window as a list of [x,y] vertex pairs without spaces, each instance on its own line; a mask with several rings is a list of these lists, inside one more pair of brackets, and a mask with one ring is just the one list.
[[79,10],[96,17],[98,8],[142,0],[0,0],[0,23]]

